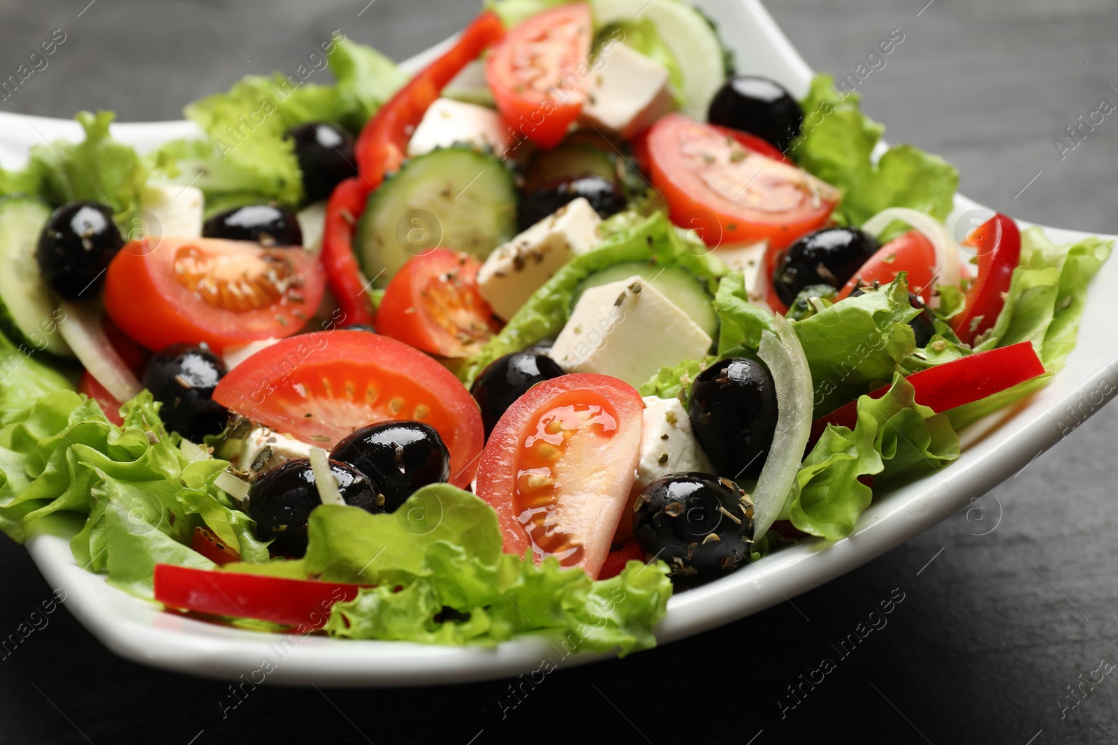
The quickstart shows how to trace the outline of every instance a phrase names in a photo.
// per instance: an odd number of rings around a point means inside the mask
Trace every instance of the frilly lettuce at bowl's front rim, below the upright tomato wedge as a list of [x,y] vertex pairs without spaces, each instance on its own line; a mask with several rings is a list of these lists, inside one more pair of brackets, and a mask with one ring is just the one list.
[[505,554],[496,513],[446,484],[419,489],[395,513],[319,507],[307,539],[301,560],[225,569],[377,585],[333,606],[325,629],[335,637],[495,644],[553,631],[575,634],[585,649],[624,655],[655,644],[652,627],[672,592],[662,562],[629,562],[618,576],[595,582],[553,557],[537,565]]

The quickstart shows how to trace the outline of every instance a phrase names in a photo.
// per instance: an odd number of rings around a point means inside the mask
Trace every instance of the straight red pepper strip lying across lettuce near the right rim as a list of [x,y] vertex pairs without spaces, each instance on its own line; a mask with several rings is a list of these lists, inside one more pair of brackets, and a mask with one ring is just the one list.
[[[916,402],[939,413],[979,401],[1043,374],[1044,365],[1036,356],[1032,342],[1021,342],[945,362],[913,373],[906,380],[916,389]],[[870,397],[880,399],[888,391],[889,385],[883,385],[870,393]],[[854,400],[817,419],[812,424],[811,441],[818,440],[827,424],[854,429],[856,423],[858,400]]]

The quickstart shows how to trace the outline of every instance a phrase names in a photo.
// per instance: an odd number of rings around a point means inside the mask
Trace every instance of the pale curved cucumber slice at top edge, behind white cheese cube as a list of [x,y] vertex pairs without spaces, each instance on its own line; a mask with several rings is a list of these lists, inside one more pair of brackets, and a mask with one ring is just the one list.
[[722,44],[702,13],[683,0],[590,0],[598,26],[647,18],[683,75],[681,111],[707,121],[710,99],[726,82]]

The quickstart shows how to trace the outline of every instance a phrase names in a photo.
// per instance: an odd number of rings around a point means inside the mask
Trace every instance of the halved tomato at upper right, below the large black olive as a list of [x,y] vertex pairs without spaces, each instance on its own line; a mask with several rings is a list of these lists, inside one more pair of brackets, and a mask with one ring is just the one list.
[[650,175],[675,225],[697,229],[708,246],[768,240],[780,249],[826,223],[836,189],[736,140],[682,114],[652,126]]

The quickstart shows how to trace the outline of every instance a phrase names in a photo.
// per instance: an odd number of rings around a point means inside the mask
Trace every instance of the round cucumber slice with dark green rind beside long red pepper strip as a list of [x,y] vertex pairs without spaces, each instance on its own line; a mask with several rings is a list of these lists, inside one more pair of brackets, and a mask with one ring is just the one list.
[[357,254],[373,287],[385,287],[414,256],[442,247],[484,260],[515,235],[512,172],[491,153],[455,145],[406,161],[370,194]]

